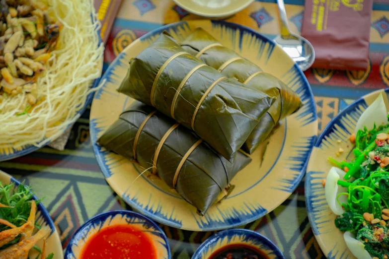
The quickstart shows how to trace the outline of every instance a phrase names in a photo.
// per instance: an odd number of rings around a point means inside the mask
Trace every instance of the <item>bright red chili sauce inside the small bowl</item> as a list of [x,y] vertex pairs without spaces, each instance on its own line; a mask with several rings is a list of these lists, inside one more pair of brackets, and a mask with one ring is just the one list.
[[132,225],[102,228],[85,243],[80,259],[157,259],[152,240]]

